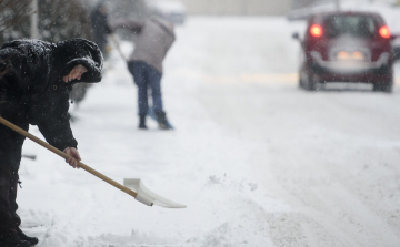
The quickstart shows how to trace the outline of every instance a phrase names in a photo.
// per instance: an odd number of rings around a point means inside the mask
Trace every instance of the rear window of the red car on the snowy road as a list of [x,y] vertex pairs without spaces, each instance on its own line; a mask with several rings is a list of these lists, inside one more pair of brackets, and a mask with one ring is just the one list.
[[359,38],[370,38],[377,33],[372,17],[368,16],[330,16],[324,22],[324,33],[329,38],[349,34]]

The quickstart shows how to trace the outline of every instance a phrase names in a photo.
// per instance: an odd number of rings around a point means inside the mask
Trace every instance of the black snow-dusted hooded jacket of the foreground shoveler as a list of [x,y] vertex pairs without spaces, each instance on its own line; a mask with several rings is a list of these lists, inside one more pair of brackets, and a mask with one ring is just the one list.
[[[73,39],[58,43],[17,40],[0,49],[0,104],[18,105],[23,117],[38,125],[44,138],[59,150],[77,147],[69,124],[69,93],[77,82],[101,80],[102,54],[91,41]],[[62,78],[78,64],[88,69],[81,80]],[[8,106],[9,105],[9,106]],[[4,110],[4,109],[3,109]],[[7,109],[6,109],[7,110]]]

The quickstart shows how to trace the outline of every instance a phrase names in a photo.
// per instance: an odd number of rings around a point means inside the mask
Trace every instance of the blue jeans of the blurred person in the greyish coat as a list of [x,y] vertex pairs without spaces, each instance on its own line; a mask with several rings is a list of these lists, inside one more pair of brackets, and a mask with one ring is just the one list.
[[138,85],[139,115],[146,115],[149,109],[148,89],[151,90],[154,112],[162,112],[161,76],[162,74],[149,64],[140,61],[128,62],[129,72]]

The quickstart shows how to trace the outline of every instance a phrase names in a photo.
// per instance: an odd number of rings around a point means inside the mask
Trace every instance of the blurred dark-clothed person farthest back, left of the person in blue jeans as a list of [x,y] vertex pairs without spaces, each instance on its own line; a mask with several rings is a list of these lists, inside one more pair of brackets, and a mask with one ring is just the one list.
[[92,12],[90,13],[90,21],[92,25],[93,41],[99,45],[100,51],[107,55],[108,35],[111,33],[111,29],[108,21],[107,8],[103,1],[100,1]]

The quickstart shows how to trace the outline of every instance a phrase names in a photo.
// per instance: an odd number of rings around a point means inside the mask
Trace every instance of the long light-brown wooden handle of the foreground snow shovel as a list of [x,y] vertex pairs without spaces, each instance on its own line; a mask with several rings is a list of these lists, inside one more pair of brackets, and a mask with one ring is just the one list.
[[[26,136],[27,138],[30,138],[31,141],[38,143],[39,145],[48,148],[49,151],[53,152],[54,154],[63,157],[63,158],[69,158],[71,157],[70,155],[59,151],[58,148],[53,147],[52,145],[41,141],[40,138],[36,137],[34,135],[28,133],[27,131],[20,128],[19,126],[12,124],[11,122],[4,120],[3,117],[0,116],[0,123],[2,123],[3,125],[8,126],[9,128],[11,128],[12,131],[14,132],[18,132],[19,134]],[[109,183],[110,185],[121,189],[122,192],[127,193],[128,195],[131,195],[133,197],[136,197],[138,194],[129,188],[127,188],[126,186],[114,182],[113,179],[111,179],[110,177],[108,176],[104,176],[103,174],[99,173],[98,171],[91,168],[90,166],[88,165],[84,165],[83,163],[81,162],[78,162],[78,166],[81,167],[82,169],[87,171],[88,173],[91,173],[92,175],[99,177],[100,179]]]

